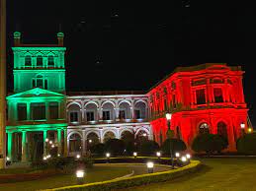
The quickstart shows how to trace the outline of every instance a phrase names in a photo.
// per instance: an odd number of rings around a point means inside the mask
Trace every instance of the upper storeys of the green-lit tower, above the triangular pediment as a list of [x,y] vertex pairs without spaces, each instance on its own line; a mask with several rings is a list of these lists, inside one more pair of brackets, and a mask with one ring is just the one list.
[[65,66],[62,32],[58,44],[22,44],[21,32],[14,32],[14,92],[41,88],[65,92]]

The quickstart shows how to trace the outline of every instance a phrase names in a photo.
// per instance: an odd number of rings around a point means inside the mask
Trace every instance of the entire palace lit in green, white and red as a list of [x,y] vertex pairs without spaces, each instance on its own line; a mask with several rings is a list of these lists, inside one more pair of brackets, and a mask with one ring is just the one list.
[[240,124],[247,128],[240,67],[179,67],[148,93],[69,93],[63,36],[57,33],[57,44],[24,44],[21,33],[14,33],[14,93],[7,96],[6,127],[10,159],[45,157],[49,150],[85,154],[92,144],[130,135],[161,145],[167,112],[175,136],[188,147],[208,131],[226,137],[228,150],[235,150]]

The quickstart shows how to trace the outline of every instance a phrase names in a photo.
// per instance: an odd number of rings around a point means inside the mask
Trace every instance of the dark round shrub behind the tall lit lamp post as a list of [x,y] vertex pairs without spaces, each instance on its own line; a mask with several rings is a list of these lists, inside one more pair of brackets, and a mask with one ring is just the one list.
[[187,149],[186,144],[182,140],[180,140],[180,139],[171,139],[171,140],[167,139],[163,143],[163,145],[161,147],[161,150],[163,151],[164,154],[170,155],[170,149],[171,149],[170,147],[172,147],[172,149],[173,149],[173,154],[175,154],[176,152],[185,151]]

